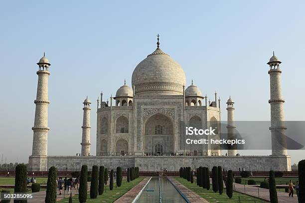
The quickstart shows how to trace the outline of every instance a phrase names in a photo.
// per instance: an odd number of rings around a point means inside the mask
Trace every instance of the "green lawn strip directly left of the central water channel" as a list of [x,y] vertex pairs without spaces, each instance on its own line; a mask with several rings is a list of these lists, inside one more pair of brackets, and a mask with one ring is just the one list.
[[[106,192],[104,191],[103,195],[99,195],[97,199],[90,199],[90,192],[88,191],[87,202],[86,203],[113,203],[117,199],[119,199],[122,195],[128,192],[130,189],[138,185],[145,177],[139,177],[129,183],[124,183],[120,188],[116,188],[114,186],[113,190],[109,190],[109,181],[106,186]],[[72,197],[73,202],[78,202],[78,195]],[[68,198],[63,199],[59,203],[68,203]]]

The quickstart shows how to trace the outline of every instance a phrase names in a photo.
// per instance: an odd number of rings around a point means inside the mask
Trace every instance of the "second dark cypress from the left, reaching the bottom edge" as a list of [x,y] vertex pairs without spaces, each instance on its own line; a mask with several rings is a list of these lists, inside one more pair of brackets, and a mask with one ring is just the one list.
[[49,169],[45,203],[56,203],[56,168]]

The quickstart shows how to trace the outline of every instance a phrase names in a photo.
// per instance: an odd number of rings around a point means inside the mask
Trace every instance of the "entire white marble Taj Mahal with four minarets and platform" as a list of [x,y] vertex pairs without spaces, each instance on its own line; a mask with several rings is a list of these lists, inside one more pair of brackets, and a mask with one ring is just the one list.
[[[34,101],[35,119],[30,171],[47,171],[55,166],[59,171],[79,171],[86,164],[104,165],[109,169],[139,167],[140,171],[179,171],[180,167],[222,166],[238,171],[291,171],[291,157],[285,147],[286,127],[283,122],[284,100],[281,90],[281,61],[273,54],[268,61],[270,75],[272,154],[266,156],[236,156],[237,149],[224,152],[218,145],[187,145],[185,127],[207,129],[213,127],[221,138],[221,100],[215,92],[212,99],[202,94],[195,82],[187,86],[182,67],[157,47],[134,69],[132,85],[126,82],[115,97],[103,98],[103,93],[93,107],[88,98],[83,102],[81,154],[52,156],[47,153],[48,140],[48,77],[50,62],[45,55],[37,63],[38,84]],[[55,67],[54,67],[55,68]],[[262,67],[264,68],[264,67]],[[267,70],[267,69],[266,69]],[[267,71],[266,71],[267,72]],[[211,92],[214,90],[211,90]],[[266,101],[266,105],[267,105]],[[227,130],[234,138],[235,103],[233,97],[225,103]],[[91,151],[91,109],[97,112],[96,153]],[[238,109],[238,107],[237,107]],[[81,110],[81,109],[80,109]],[[81,130],[80,130],[81,132]],[[281,133],[277,133],[281,132]],[[209,138],[209,137],[207,137]],[[279,143],[281,142],[281,143]],[[223,156],[227,153],[227,156]],[[92,154],[95,154],[92,156]]]

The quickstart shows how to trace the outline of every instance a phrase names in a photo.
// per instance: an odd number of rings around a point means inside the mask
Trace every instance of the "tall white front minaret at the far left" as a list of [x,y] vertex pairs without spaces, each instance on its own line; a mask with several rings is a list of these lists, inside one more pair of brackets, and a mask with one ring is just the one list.
[[38,71],[38,84],[35,108],[35,120],[33,130],[33,145],[32,145],[32,156],[47,156],[48,154],[48,77],[50,75],[49,60],[43,57],[37,63]]

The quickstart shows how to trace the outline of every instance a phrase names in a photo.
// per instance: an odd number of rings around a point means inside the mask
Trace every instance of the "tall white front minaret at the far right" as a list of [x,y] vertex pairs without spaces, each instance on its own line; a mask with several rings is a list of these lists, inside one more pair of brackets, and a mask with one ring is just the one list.
[[271,142],[272,155],[287,155],[286,130],[284,125],[284,99],[282,97],[280,64],[282,62],[274,55],[267,63],[270,66],[270,107],[271,107]]

